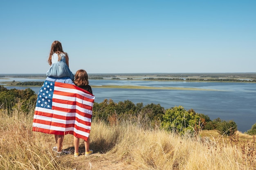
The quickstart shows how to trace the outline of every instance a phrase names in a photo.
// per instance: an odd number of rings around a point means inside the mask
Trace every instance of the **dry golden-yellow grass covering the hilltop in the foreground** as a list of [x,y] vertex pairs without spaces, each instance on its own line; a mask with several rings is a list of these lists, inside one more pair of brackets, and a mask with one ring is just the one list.
[[[32,132],[34,110],[0,110],[0,170],[256,170],[256,142],[238,133],[234,139],[214,131],[200,136],[179,136],[148,121],[135,118],[107,125],[93,121],[91,149],[81,155],[56,158],[52,151],[54,135]],[[66,135],[64,148],[74,150],[72,135]],[[238,141],[237,141],[238,139]],[[243,139],[243,140],[242,140]]]

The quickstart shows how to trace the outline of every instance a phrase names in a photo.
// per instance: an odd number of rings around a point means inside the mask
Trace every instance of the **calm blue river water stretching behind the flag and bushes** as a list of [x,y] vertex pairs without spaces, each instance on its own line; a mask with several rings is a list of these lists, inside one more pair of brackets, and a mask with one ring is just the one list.
[[[31,79],[11,79],[19,82]],[[6,81],[1,80],[0,82]],[[34,80],[44,81],[44,79]],[[183,106],[186,110],[193,108],[197,113],[208,115],[211,120],[234,120],[238,130],[245,132],[256,123],[256,83],[236,82],[161,82],[142,80],[90,80],[90,85],[133,85],[152,87],[186,87],[221,91],[184,91],[184,90],[146,90],[121,88],[93,88],[95,102],[112,99],[114,102],[130,100],[133,103],[160,104],[164,108]],[[26,87],[7,87],[25,89]],[[31,87],[38,93],[40,87]]]

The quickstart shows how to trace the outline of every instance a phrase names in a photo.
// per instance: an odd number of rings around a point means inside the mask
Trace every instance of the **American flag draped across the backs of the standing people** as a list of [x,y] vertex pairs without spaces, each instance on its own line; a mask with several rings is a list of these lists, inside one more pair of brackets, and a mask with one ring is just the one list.
[[55,135],[73,134],[87,140],[94,95],[72,84],[45,81],[36,101],[32,130]]

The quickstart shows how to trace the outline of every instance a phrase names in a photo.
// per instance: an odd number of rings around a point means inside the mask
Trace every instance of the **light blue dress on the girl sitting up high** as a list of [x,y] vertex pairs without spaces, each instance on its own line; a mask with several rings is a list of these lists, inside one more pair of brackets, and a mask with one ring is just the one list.
[[47,77],[70,77],[74,80],[74,74],[66,64],[65,54],[61,53],[60,55],[60,61],[58,61],[58,54],[54,53],[52,55],[52,65],[46,73]]

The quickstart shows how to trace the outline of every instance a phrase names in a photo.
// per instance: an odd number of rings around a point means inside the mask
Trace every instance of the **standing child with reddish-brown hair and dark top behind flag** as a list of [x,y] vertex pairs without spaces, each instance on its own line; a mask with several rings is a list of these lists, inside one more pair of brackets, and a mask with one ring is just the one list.
[[[80,88],[83,88],[84,90],[92,93],[92,88],[89,85],[89,81],[88,81],[88,74],[85,70],[78,70],[76,71],[75,74],[75,80],[74,80],[74,84]],[[90,136],[88,137],[87,141],[84,141],[84,145],[85,145],[85,156],[91,155],[93,153],[93,150],[90,150]],[[78,157],[79,156],[79,138],[74,136],[74,157]]]

